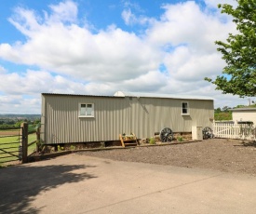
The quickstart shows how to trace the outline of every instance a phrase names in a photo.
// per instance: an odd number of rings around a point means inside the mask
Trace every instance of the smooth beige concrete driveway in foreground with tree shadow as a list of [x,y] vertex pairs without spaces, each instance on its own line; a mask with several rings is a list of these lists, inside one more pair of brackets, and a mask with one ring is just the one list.
[[0,213],[255,213],[256,177],[80,154],[0,168]]

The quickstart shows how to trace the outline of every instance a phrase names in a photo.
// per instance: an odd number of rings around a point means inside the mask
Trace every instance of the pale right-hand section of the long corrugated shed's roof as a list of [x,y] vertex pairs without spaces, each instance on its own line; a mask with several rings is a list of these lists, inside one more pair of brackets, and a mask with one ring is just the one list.
[[185,99],[185,100],[213,100],[213,98],[206,96],[191,96],[181,94],[153,94],[140,92],[117,91],[116,97],[137,97],[137,98],[170,98],[170,99]]

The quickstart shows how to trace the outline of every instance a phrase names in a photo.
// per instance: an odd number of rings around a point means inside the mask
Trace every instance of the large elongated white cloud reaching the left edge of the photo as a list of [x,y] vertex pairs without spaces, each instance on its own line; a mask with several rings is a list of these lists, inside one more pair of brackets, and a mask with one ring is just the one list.
[[127,79],[158,66],[156,49],[134,33],[118,28],[93,34],[78,25],[51,20],[27,34],[30,39],[24,44],[1,44],[0,57],[93,81]]

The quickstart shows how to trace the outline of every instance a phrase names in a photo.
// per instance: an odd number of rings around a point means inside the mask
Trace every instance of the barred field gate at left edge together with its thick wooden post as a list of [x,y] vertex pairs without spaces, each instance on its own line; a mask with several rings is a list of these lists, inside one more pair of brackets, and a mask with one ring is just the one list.
[[27,162],[28,125],[0,129],[0,165],[7,162]]

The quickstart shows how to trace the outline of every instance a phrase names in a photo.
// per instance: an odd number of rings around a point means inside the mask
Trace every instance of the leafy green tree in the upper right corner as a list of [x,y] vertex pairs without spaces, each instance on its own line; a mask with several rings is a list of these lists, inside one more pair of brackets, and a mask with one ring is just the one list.
[[222,13],[233,16],[237,34],[229,33],[226,43],[216,41],[218,51],[226,66],[222,75],[215,80],[205,80],[216,85],[223,94],[234,94],[240,97],[256,96],[256,1],[237,0],[236,8],[223,4]]

